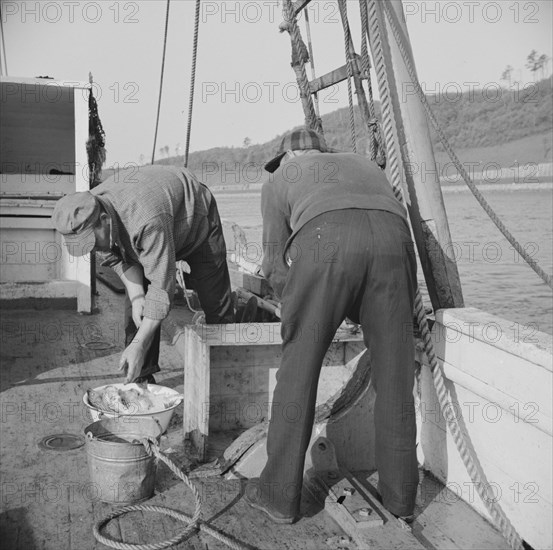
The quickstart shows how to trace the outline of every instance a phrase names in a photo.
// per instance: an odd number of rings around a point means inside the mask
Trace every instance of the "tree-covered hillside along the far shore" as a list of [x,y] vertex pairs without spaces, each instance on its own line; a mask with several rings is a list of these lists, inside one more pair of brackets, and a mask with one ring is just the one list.
[[[472,90],[463,94],[427,96],[432,110],[449,142],[463,162],[497,163],[511,166],[519,163],[551,162],[553,129],[552,78],[520,90],[497,87]],[[380,114],[380,105],[376,105]],[[366,133],[359,110],[355,111],[358,151],[366,150]],[[323,115],[328,144],[336,149],[351,150],[349,112],[347,107]],[[436,160],[444,166],[449,157],[431,130]],[[189,167],[208,185],[256,183],[260,167],[277,150],[282,135],[250,147],[214,147],[191,153]],[[183,156],[160,159],[158,164],[182,166]],[[238,171],[236,168],[238,166]],[[475,168],[477,171],[479,167]],[[104,171],[104,177],[109,170]]]

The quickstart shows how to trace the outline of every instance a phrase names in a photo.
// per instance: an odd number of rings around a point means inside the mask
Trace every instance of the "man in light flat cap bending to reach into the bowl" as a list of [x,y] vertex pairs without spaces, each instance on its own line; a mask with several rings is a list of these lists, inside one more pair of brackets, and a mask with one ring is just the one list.
[[126,381],[155,383],[161,321],[175,294],[176,261],[186,260],[207,323],[234,322],[217,204],[185,168],[145,166],[56,203],[52,221],[72,256],[107,252],[103,265],[127,290]]

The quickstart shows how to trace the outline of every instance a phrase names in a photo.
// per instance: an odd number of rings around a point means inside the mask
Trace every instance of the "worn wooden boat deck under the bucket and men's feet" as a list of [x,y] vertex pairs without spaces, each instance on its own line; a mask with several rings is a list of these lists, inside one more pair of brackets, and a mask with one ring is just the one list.
[[[87,388],[121,381],[117,372],[123,349],[123,297],[103,284],[99,313],[4,310],[1,317],[0,398],[2,548],[10,550],[92,550],[105,548],[92,534],[93,524],[114,507],[98,500],[90,482],[84,447],[57,452],[38,442],[58,433],[82,435],[91,419],[82,404]],[[179,318],[190,318],[183,308]],[[105,342],[108,349],[87,342]],[[181,357],[165,340],[158,383],[183,389]],[[182,410],[173,417],[162,450],[185,470],[193,467],[182,441]],[[364,474],[365,478],[370,472]],[[305,491],[304,517],[292,526],[276,526],[242,500],[243,480],[219,477],[195,480],[203,499],[202,517],[246,547],[260,549],[355,548],[332,518]],[[156,494],[148,504],[192,515],[188,488],[158,466]],[[111,522],[108,532],[127,543],[145,544],[172,537],[181,524],[158,514],[129,514]],[[421,484],[413,545],[427,549],[507,548],[502,537],[468,505],[430,478]],[[415,540],[416,539],[416,540]],[[375,547],[409,545],[382,540]],[[199,533],[177,549],[226,546]]]

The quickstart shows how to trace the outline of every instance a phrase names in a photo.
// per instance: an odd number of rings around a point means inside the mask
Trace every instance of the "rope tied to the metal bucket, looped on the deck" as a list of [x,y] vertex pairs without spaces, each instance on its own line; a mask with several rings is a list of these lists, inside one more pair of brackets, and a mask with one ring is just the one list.
[[[169,546],[174,546],[175,544],[178,544],[179,542],[189,537],[190,535],[192,535],[192,533],[194,533],[199,529],[200,531],[203,531],[204,533],[211,535],[212,537],[226,544],[230,548],[233,548],[234,550],[245,550],[246,548],[248,548],[230,539],[229,537],[225,536],[219,531],[213,529],[206,523],[203,523],[200,520],[202,502],[201,502],[200,493],[198,492],[198,489],[196,488],[196,486],[190,481],[188,476],[174,462],[172,462],[159,450],[159,447],[157,446],[157,443],[155,441],[152,441],[150,439],[142,439],[141,443],[144,445],[146,452],[150,456],[155,456],[156,458],[161,460],[177,477],[179,477],[182,481],[184,481],[184,483],[186,483],[186,485],[188,485],[188,487],[192,491],[192,494],[194,495],[194,502],[195,502],[194,515],[190,517],[186,514],[183,514],[182,512],[177,512],[176,510],[172,510],[171,508],[166,508],[165,506],[151,506],[148,504],[136,504],[132,506],[125,506],[123,508],[119,508],[118,510],[115,510],[115,512],[111,513],[106,518],[98,521],[94,525],[93,533],[94,533],[94,537],[98,542],[101,542],[102,544],[104,544],[105,546],[109,546],[110,548],[116,548],[117,550],[162,550],[163,548],[168,548]],[[173,538],[167,539],[162,542],[154,542],[151,544],[129,544],[126,542],[110,539],[102,535],[101,533],[102,528],[105,525],[107,525],[112,519],[118,518],[128,512],[139,512],[139,511],[158,512],[166,516],[171,516],[172,518],[182,521],[183,523],[187,523],[188,525],[184,528],[184,530],[182,530],[180,533],[177,533]]]

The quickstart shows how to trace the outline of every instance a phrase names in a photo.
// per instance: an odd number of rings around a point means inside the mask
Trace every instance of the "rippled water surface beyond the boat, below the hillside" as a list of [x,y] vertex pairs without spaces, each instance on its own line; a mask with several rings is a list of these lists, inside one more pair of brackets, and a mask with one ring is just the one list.
[[[216,193],[221,217],[245,231],[252,261],[261,259],[261,193]],[[486,190],[485,197],[546,273],[553,272],[553,190]],[[469,191],[446,191],[444,202],[466,306],[513,321],[521,337],[553,334],[553,293],[495,227]],[[422,272],[419,269],[421,282]]]

